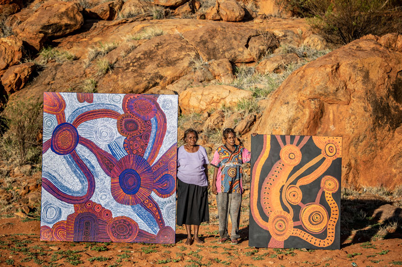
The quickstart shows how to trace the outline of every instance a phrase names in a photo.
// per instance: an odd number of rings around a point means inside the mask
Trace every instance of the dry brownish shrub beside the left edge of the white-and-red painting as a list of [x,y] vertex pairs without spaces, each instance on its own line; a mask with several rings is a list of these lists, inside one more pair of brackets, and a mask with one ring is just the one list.
[[3,158],[16,157],[19,165],[28,161],[33,163],[40,161],[42,150],[37,137],[42,128],[42,107],[42,102],[33,98],[7,104],[3,115],[8,130],[0,144]]

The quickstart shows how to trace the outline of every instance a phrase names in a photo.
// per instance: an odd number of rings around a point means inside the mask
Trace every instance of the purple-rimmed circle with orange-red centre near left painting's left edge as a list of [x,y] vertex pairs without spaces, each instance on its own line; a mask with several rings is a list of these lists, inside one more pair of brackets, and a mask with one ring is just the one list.
[[57,125],[52,134],[50,148],[58,155],[71,153],[78,144],[78,131],[68,122]]

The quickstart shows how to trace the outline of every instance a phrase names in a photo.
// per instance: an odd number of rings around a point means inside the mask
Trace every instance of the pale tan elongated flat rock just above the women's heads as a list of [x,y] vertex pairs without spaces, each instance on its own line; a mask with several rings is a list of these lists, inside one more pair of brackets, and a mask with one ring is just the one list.
[[179,96],[179,106],[182,113],[202,113],[213,107],[234,106],[239,99],[247,99],[251,91],[241,90],[228,85],[210,85],[192,87]]

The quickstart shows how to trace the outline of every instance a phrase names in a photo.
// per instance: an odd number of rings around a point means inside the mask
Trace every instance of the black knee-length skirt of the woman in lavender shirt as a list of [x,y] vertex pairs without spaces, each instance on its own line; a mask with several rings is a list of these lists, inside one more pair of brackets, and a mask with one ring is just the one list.
[[176,224],[199,225],[210,220],[208,186],[182,182],[177,178]]

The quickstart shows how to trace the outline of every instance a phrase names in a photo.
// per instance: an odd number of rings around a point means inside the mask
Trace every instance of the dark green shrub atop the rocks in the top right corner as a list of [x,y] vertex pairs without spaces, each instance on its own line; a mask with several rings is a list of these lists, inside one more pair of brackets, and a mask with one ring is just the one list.
[[348,44],[365,35],[400,33],[402,5],[397,0],[276,0],[309,23],[327,41]]

